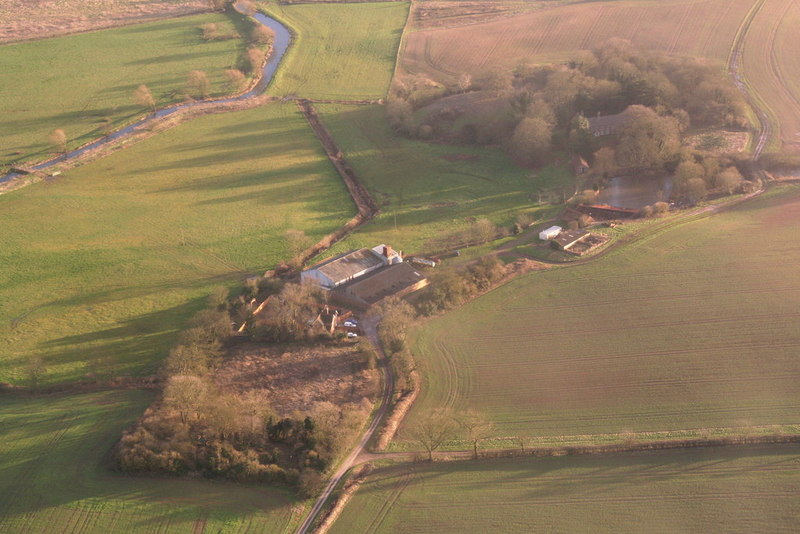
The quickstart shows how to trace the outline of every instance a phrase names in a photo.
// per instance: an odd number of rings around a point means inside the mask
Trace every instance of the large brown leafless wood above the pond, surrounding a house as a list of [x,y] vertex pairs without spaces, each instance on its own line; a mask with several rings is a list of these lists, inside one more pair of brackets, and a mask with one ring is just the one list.
[[[471,91],[494,93],[493,117],[472,117],[469,106],[434,101]],[[591,159],[600,148],[587,117],[631,108],[619,135],[615,163],[653,168],[677,161],[680,134],[695,127],[746,128],[747,104],[723,69],[692,58],[639,50],[612,39],[562,65],[522,64],[463,75],[449,87],[420,76],[400,78],[387,102],[387,118],[405,135],[467,144],[499,144],[520,164],[548,163],[553,150]]]

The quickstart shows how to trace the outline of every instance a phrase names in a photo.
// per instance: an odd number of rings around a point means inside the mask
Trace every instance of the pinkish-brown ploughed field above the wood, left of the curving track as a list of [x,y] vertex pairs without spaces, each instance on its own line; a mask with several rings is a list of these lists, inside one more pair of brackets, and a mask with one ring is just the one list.
[[653,50],[724,60],[753,0],[591,2],[409,35],[404,64],[434,78],[520,60],[563,60],[619,37]]

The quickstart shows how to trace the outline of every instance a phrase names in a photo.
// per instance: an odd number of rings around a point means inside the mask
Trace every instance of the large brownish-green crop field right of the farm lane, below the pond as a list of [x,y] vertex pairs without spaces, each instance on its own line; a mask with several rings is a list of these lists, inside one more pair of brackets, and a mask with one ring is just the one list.
[[800,187],[776,187],[430,320],[409,422],[473,408],[498,436],[573,438],[797,424],[798,215]]

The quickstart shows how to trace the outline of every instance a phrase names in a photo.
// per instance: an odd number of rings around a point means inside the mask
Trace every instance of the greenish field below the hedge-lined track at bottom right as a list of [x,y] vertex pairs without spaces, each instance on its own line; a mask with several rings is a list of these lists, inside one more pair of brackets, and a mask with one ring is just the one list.
[[794,532],[794,447],[378,469],[331,533]]

